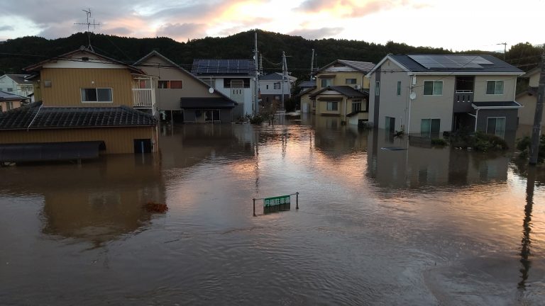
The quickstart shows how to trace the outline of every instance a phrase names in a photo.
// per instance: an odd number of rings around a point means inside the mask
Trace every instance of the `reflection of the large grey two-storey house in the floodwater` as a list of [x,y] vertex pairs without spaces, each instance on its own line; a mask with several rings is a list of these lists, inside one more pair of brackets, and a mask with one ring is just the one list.
[[[386,135],[386,136],[385,136]],[[463,186],[488,181],[506,181],[509,157],[482,154],[450,147],[408,146],[396,142],[385,130],[369,134],[368,175],[382,187],[420,188],[424,186]]]

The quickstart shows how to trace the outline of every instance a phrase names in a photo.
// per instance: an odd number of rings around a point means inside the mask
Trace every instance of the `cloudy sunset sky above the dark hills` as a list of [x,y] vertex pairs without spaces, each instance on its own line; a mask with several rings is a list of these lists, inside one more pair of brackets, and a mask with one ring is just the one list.
[[259,28],[307,39],[342,38],[452,50],[545,42],[545,0],[2,0],[0,40],[60,38],[87,30],[185,42]]

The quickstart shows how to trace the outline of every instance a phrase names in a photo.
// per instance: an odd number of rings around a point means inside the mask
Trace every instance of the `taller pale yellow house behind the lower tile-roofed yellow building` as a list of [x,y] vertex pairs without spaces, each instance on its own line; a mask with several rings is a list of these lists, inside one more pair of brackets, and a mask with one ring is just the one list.
[[314,86],[316,89],[314,91],[303,89],[302,91],[307,91],[307,93],[299,93],[302,98],[301,111],[303,113],[319,113],[317,111],[318,106],[315,103],[317,100],[309,99],[308,94],[315,94],[316,91],[329,86],[349,86],[356,90],[369,89],[369,80],[365,78],[365,74],[370,72],[374,66],[375,64],[371,62],[335,60],[321,67],[314,73],[314,78],[316,79]]

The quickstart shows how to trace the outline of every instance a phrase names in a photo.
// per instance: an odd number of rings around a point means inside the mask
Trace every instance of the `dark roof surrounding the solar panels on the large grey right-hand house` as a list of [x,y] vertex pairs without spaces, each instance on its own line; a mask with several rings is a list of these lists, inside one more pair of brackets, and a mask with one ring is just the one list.
[[483,59],[492,62],[492,64],[484,64],[482,68],[431,68],[428,69],[422,64],[419,64],[413,60],[409,55],[388,55],[396,62],[402,64],[405,68],[409,69],[412,72],[514,72],[522,73],[521,69],[514,67],[506,62],[493,57],[492,55],[448,55],[448,56],[462,56],[462,57],[483,57]]

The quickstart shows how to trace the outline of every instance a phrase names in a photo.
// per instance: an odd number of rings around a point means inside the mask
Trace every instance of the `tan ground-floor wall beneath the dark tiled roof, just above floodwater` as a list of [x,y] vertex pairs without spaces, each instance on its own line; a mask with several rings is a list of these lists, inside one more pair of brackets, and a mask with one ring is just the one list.
[[[136,139],[155,140],[155,128],[70,128],[50,130],[0,131],[0,143],[79,142],[101,140],[106,154],[133,153]],[[153,148],[157,152],[158,144]]]

